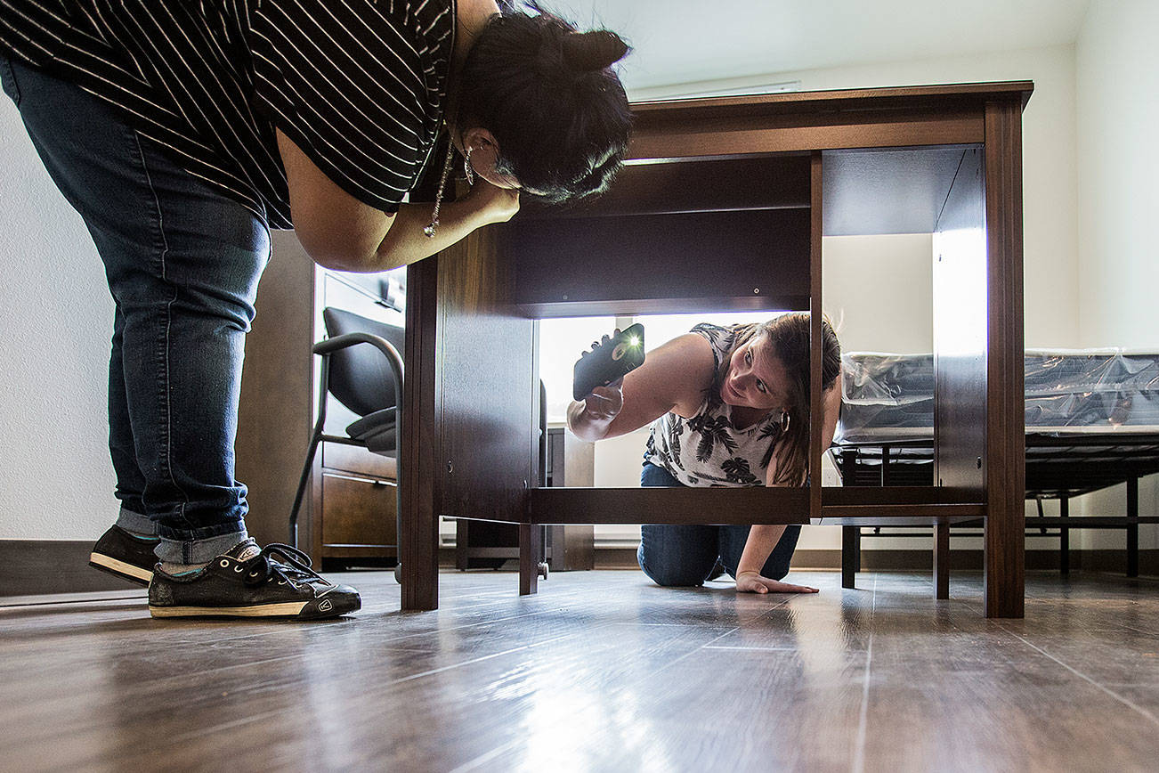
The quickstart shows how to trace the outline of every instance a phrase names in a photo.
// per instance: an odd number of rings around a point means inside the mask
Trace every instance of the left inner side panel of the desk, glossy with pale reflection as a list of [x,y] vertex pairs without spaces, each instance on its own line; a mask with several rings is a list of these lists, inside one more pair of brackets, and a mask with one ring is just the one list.
[[438,515],[518,522],[538,480],[535,322],[510,312],[491,228],[440,253],[438,271]]

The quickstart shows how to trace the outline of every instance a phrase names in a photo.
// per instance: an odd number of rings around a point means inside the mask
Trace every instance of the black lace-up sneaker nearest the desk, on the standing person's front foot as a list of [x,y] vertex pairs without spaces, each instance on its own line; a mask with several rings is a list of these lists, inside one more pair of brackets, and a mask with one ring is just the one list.
[[309,556],[301,550],[277,542],[258,548],[254,540],[188,574],[170,575],[159,564],[148,586],[154,618],[321,620],[359,607],[358,591],[328,583],[309,568]]

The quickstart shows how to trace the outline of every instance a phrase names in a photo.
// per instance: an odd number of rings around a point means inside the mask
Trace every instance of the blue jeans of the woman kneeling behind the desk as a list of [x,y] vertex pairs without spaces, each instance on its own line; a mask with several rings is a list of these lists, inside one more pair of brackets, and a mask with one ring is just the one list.
[[[640,473],[641,486],[684,486],[671,473],[650,462],[644,462]],[[657,585],[702,585],[713,575],[717,561],[736,578],[736,567],[741,563],[744,542],[749,539],[750,526],[683,526],[675,524],[647,524],[640,528],[640,549],[636,561]],[[789,560],[796,548],[801,527],[785,527],[780,541],[770,554],[760,574],[780,579],[789,573]]]

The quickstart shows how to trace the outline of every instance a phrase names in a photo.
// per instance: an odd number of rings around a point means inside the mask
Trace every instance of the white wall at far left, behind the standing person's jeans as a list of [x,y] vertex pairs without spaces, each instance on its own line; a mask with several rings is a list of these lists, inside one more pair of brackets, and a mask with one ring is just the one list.
[[112,300],[80,217],[0,97],[0,539],[95,539],[116,518]]

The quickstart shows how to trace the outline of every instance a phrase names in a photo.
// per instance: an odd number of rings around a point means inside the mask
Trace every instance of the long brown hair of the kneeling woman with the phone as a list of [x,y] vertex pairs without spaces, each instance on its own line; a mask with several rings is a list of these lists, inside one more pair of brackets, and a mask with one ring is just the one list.
[[[732,341],[732,347],[721,359],[713,381],[713,395],[720,399],[720,388],[728,374],[729,364],[737,349],[756,341],[756,345],[775,356],[785,365],[789,377],[788,429],[773,432],[768,451],[761,460],[767,467],[777,453],[777,474],[773,483],[803,486],[809,474],[809,314],[782,314],[767,322],[742,326]],[[832,388],[841,370],[841,343],[837,340],[829,318],[821,323],[821,386]]]

